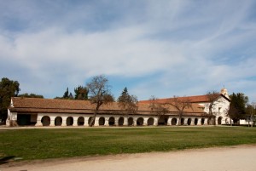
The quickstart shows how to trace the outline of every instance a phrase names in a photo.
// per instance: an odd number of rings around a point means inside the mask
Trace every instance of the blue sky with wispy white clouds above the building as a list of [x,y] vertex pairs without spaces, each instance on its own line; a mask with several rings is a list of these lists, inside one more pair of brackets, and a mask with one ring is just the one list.
[[219,91],[256,101],[256,2],[0,0],[0,78],[62,96],[104,74],[117,98]]

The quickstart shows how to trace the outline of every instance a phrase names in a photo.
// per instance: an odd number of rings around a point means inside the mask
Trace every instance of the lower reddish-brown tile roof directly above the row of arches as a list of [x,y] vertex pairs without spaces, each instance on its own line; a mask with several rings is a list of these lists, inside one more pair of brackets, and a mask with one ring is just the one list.
[[[52,100],[38,98],[13,97],[13,106],[9,107],[10,111],[16,112],[55,112],[55,113],[80,113],[92,114],[95,106],[89,100]],[[149,103],[139,102],[136,114],[152,114]],[[170,113],[177,113],[177,109],[168,105]],[[108,105],[102,105],[99,113],[118,114],[121,112],[118,103],[113,102]],[[201,105],[193,104],[192,108],[184,110],[187,115],[205,115]]]

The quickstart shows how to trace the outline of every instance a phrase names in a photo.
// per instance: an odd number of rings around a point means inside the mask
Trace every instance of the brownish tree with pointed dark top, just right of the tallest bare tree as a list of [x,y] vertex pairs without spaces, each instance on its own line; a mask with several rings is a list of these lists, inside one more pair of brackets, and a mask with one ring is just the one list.
[[137,111],[137,97],[135,95],[130,95],[127,88],[124,88],[122,94],[120,94],[117,100],[119,107],[125,111],[125,114],[135,113]]

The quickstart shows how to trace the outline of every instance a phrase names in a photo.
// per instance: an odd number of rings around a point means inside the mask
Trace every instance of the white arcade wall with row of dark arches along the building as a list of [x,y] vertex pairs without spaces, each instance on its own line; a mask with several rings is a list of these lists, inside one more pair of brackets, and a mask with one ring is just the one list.
[[[94,126],[157,126],[178,125],[179,118],[173,116],[97,116]],[[39,115],[36,126],[89,126],[92,116]],[[182,117],[181,125],[207,125],[204,117]]]

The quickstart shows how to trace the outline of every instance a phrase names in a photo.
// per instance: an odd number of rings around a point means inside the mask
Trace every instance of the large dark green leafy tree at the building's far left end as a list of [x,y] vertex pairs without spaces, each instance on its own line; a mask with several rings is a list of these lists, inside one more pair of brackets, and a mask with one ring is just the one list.
[[0,118],[7,119],[7,109],[10,104],[11,97],[16,97],[20,92],[20,83],[3,77],[0,82]]

